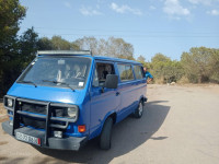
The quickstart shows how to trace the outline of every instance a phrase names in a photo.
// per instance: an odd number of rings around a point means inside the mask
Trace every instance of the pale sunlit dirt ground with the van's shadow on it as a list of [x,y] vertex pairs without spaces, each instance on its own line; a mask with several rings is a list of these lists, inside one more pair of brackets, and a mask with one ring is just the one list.
[[128,117],[114,127],[110,151],[96,140],[79,152],[34,148],[0,126],[0,163],[219,163],[218,85],[151,84],[148,97],[141,119]]

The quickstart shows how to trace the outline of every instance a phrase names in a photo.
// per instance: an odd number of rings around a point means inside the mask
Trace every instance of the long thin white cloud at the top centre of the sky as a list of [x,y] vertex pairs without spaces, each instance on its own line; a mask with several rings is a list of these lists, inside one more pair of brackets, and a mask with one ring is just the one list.
[[111,3],[111,9],[118,13],[132,13],[135,15],[142,15],[142,12],[139,9],[132,9],[127,4],[118,5],[114,2]]

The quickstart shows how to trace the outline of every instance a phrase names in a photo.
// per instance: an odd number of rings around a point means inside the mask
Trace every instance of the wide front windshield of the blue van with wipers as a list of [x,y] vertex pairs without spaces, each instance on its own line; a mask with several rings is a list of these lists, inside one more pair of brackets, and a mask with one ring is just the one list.
[[36,58],[18,83],[45,86],[83,89],[89,75],[91,59],[83,57]]

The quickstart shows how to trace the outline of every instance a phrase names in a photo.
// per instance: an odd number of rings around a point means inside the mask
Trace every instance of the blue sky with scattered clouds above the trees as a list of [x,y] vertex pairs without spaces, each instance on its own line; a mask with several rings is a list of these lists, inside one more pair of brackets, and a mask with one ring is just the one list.
[[21,35],[120,37],[146,61],[161,52],[180,60],[192,47],[219,48],[219,0],[20,0],[27,8]]

